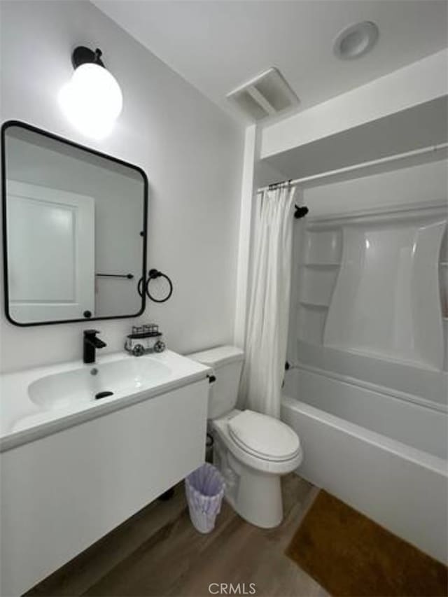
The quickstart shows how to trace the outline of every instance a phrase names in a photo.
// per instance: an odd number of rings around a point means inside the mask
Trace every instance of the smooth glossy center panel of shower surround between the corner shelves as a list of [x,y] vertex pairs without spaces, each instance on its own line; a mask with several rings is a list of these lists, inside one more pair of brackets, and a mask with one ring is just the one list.
[[407,213],[395,227],[392,221],[387,216],[385,225],[379,216],[342,225],[342,261],[323,344],[440,371],[444,334],[434,265],[446,209],[426,217]]

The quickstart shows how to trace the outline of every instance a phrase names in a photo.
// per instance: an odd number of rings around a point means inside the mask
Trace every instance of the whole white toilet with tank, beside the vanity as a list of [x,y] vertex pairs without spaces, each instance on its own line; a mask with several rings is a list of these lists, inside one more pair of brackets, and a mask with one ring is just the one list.
[[281,523],[281,475],[302,462],[297,434],[285,423],[251,410],[237,410],[244,352],[235,346],[193,353],[189,358],[212,367],[209,428],[214,464],[226,482],[225,497],[246,521],[262,528]]

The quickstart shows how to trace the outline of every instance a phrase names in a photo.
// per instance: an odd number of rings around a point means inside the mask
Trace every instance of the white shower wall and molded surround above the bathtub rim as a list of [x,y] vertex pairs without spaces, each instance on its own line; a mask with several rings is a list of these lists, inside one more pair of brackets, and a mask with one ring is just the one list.
[[[311,213],[302,239],[295,237],[290,360],[446,409],[447,174],[442,159],[304,191]],[[365,284],[375,272],[390,301],[383,293],[371,302]]]

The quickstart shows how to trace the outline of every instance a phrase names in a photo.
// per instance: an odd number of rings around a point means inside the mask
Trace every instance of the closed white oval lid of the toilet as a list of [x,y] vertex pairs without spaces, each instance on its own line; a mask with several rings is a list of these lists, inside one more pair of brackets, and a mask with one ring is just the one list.
[[288,460],[300,451],[295,431],[272,416],[244,410],[229,420],[228,428],[242,449],[265,460]]

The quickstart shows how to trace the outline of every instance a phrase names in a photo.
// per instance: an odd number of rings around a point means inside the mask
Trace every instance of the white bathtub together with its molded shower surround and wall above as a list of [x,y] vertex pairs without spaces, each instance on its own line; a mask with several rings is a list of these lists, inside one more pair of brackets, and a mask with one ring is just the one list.
[[433,160],[304,188],[282,419],[300,475],[446,561],[448,162]]

